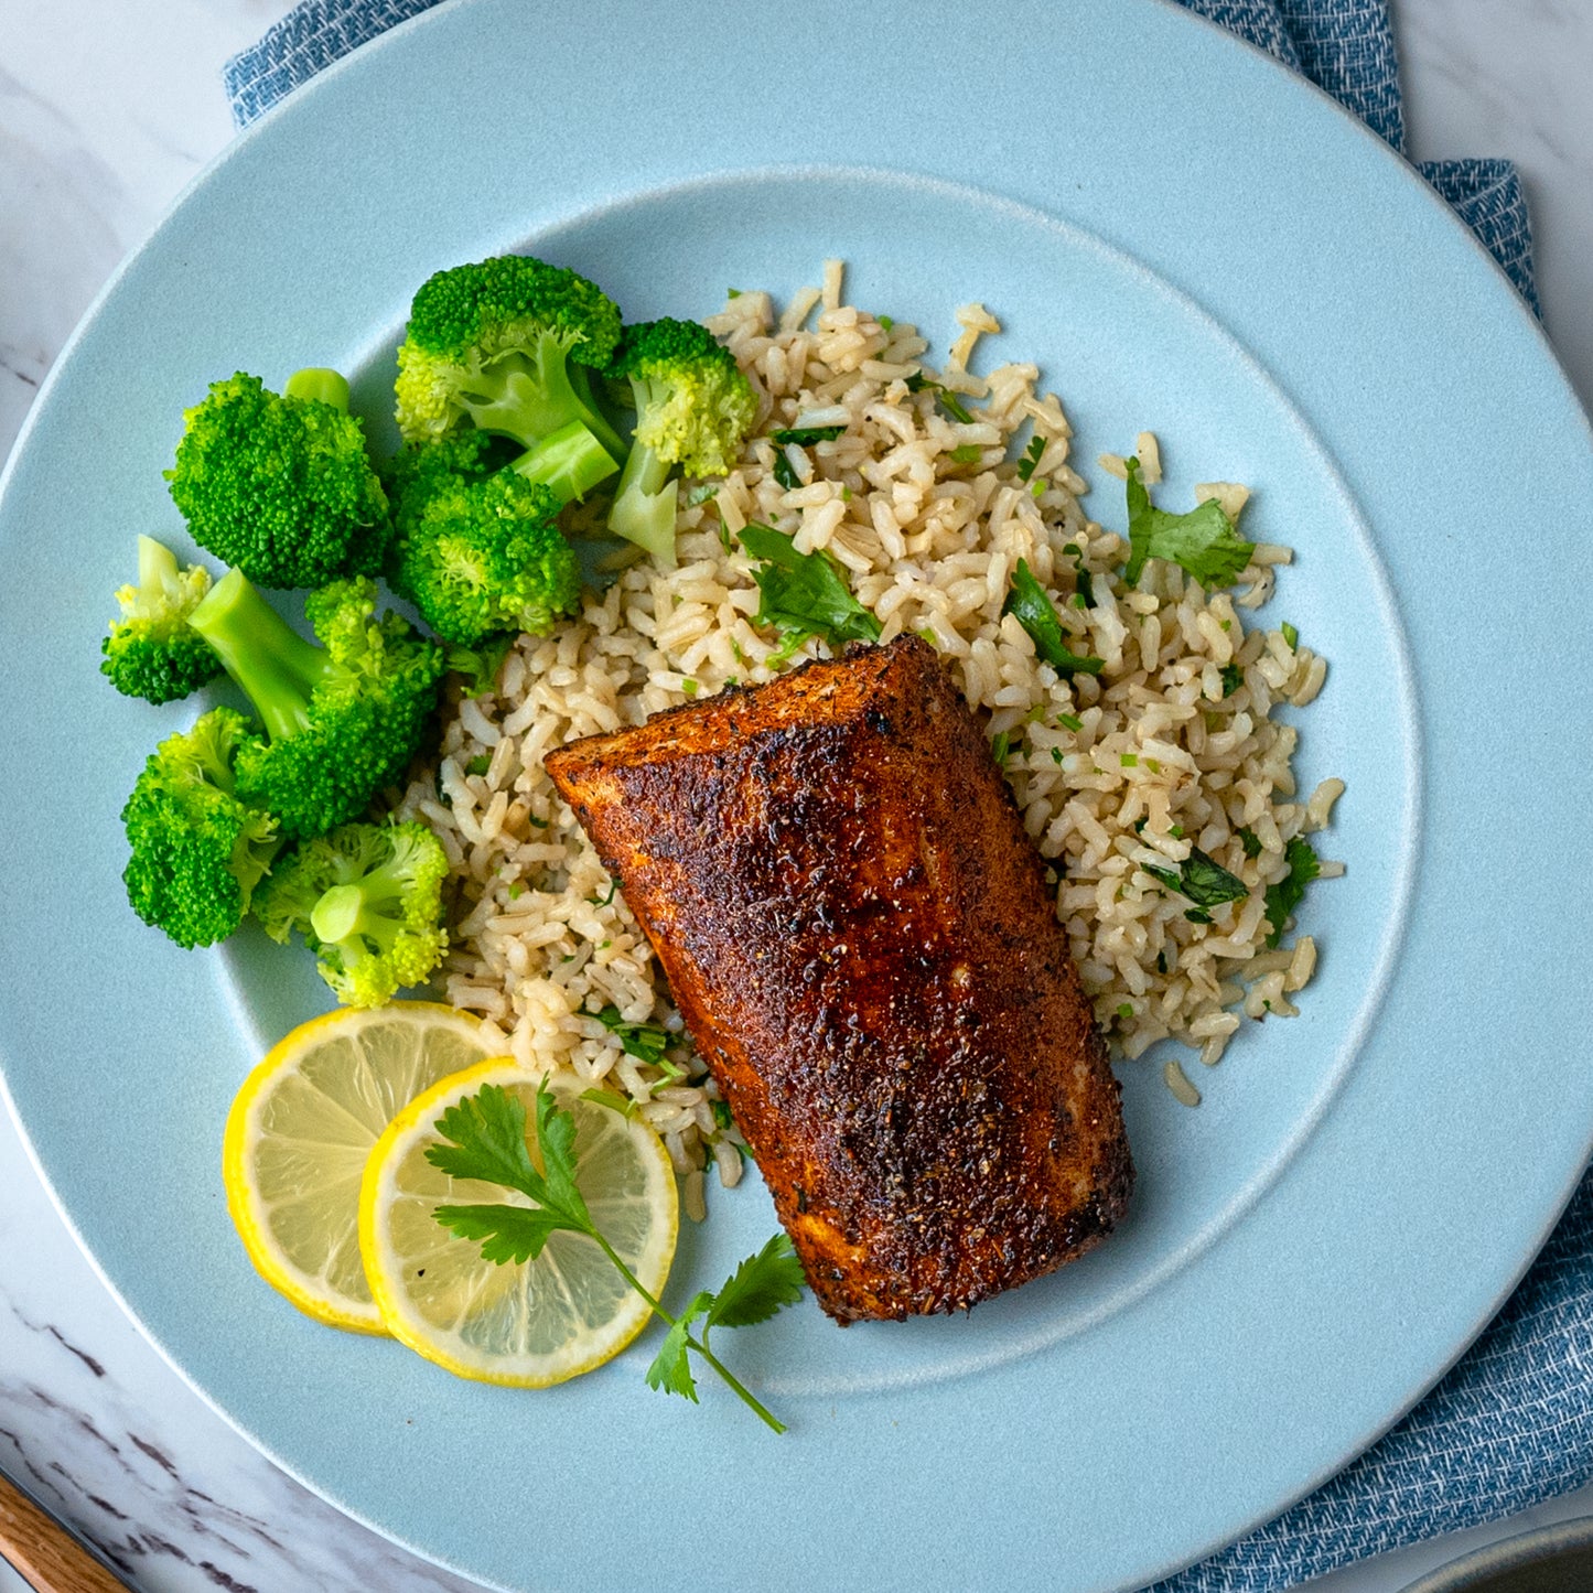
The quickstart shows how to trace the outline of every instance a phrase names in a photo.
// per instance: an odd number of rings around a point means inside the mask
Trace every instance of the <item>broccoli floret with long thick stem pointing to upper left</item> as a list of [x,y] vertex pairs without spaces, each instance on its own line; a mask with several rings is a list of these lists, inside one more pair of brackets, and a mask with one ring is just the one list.
[[282,833],[325,835],[401,779],[425,738],[443,650],[398,615],[376,618],[376,583],[335,581],[304,602],[304,640],[229,570],[193,612],[266,728],[237,757],[237,793]]

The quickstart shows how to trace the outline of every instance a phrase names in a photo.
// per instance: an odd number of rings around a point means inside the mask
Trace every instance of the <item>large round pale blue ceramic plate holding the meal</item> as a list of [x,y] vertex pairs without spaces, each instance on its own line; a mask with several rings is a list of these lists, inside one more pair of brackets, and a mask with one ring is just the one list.
[[[1180,1107],[1121,1069],[1133,1217],[969,1319],[738,1335],[790,1421],[642,1386],[645,1341],[545,1394],[456,1383],[266,1290],[217,1161],[309,959],[185,954],[127,911],[118,809],[191,707],[115,698],[94,639],[132,534],[174,535],[183,405],[245,368],[357,373],[414,287],[532,247],[632,319],[787,295],[830,255],[932,336],[980,298],[1078,459],[1160,433],[1164,502],[1254,483],[1273,613],[1332,660],[1303,781],[1349,785],[1301,1016]],[[1115,484],[1096,513],[1120,513]],[[1587,422],[1443,205],[1294,76],[1158,0],[970,11],[443,8],[223,161],[89,317],[0,503],[11,744],[5,1077],[143,1330],[263,1450],[503,1587],[1128,1588],[1325,1478],[1454,1359],[1587,1160],[1575,879],[1590,704]],[[1577,1037],[1577,1039],[1574,1039]],[[769,1231],[712,1196],[680,1297]]]

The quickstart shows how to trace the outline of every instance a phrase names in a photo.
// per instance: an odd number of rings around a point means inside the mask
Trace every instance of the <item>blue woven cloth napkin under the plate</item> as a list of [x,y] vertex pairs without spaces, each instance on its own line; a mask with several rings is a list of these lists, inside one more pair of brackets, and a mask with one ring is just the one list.
[[[226,65],[242,127],[339,56],[436,0],[304,0]],[[1182,0],[1327,89],[1405,150],[1388,0]],[[1537,309],[1532,234],[1509,161],[1423,175]],[[1493,1521],[1593,1480],[1593,1176],[1510,1303],[1381,1443],[1260,1531],[1155,1593],[1292,1587],[1367,1555]]]

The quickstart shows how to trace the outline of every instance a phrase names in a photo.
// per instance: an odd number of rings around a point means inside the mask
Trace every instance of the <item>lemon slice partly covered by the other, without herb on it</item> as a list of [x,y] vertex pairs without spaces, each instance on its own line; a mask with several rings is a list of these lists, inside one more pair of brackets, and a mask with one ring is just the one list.
[[489,1056],[481,1024],[435,1002],[344,1007],[301,1024],[226,1118],[226,1206],[261,1278],[333,1327],[381,1333],[360,1262],[360,1177],[393,1114]]

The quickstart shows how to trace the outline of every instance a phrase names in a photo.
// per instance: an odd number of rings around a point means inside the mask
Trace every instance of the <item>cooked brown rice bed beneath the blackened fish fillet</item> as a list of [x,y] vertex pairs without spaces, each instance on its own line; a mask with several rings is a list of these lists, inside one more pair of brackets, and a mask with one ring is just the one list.
[[[758,593],[734,542],[749,521],[793,532],[804,553],[825,550],[884,639],[932,640],[988,717],[992,741],[1008,747],[1024,824],[1056,863],[1058,913],[1117,1053],[1134,1058],[1171,1037],[1215,1063],[1246,1018],[1294,1013],[1289,997],[1316,962],[1309,937],[1266,949],[1263,922],[1265,890],[1287,873],[1286,844],[1325,825],[1343,790],[1325,781],[1297,800],[1295,731],[1271,717],[1279,703],[1317,695],[1324,660],[1282,631],[1244,624],[1289,550],[1258,545],[1231,591],[1204,591],[1155,561],[1137,589],[1125,588],[1123,540],[1080,507],[1086,487],[1069,464],[1061,403],[1032,365],[973,374],[980,338],[1000,328],[980,304],[957,323],[945,368],[927,374],[965,397],[969,424],[932,390],[908,389],[927,344],[903,322],[843,304],[838,263],[781,315],[766,293],[733,296],[709,325],[760,395],[760,435],[726,479],[682,486],[679,567],[632,564],[604,594],[588,593],[578,616],[523,637],[497,691],[457,703],[438,768],[403,801],[443,838],[459,878],[448,999],[495,1024],[527,1066],[569,1069],[634,1101],[687,1176],[698,1215],[707,1161],[725,1184],[739,1176],[734,1131],[715,1117],[714,1085],[680,1037],[650,948],[542,758],[824,650],[808,642],[789,653],[752,624]],[[785,489],[763,433],[790,425],[844,432],[787,449],[798,486]],[[1031,433],[1043,451],[1023,481],[1012,460]],[[1147,479],[1158,478],[1157,440],[1144,433],[1136,446]],[[1114,456],[1102,467],[1125,468]],[[1235,483],[1201,492],[1233,516],[1249,495]],[[1020,559],[1055,594],[1074,652],[1106,661],[1099,677],[1059,679],[1004,616]],[[1082,572],[1090,607],[1070,602]],[[1241,683],[1225,695],[1233,666]],[[1260,841],[1254,859],[1241,827]],[[1249,887],[1211,922],[1193,922],[1190,903],[1144,871],[1177,870],[1192,844]],[[621,1050],[593,1015],[610,1005],[680,1037],[667,1072]],[[1180,1101],[1200,1101],[1176,1063],[1164,1075]]]

